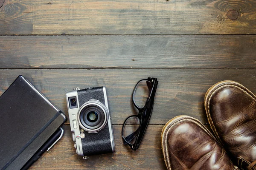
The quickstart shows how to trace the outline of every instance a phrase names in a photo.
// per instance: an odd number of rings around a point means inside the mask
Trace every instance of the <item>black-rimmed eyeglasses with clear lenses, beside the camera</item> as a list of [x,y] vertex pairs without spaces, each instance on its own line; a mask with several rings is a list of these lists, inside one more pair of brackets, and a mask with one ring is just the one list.
[[136,150],[140,147],[140,142],[148,127],[148,122],[153,110],[157,84],[157,78],[148,77],[148,79],[142,79],[137,82],[134,88],[132,102],[139,113],[126,118],[122,126],[123,142],[124,144],[128,144],[132,150]]

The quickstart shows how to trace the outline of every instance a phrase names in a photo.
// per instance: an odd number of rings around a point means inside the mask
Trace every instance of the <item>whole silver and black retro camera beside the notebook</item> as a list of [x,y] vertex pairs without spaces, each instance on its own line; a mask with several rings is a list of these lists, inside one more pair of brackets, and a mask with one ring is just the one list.
[[86,88],[66,94],[70,127],[79,156],[115,151],[105,87]]

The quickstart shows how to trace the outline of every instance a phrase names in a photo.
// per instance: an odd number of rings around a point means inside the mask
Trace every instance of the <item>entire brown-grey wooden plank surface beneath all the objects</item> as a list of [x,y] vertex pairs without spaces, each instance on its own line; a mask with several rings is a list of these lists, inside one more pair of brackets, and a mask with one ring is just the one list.
[[[83,160],[69,120],[31,170],[166,169],[161,130],[189,115],[209,128],[208,88],[234,80],[256,94],[255,0],[0,0],[0,95],[18,75],[67,115],[65,94],[105,85],[116,152]],[[121,128],[135,114],[137,81],[157,77],[154,109],[137,151]]]

